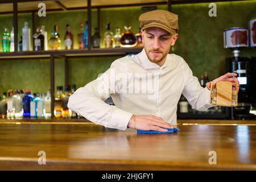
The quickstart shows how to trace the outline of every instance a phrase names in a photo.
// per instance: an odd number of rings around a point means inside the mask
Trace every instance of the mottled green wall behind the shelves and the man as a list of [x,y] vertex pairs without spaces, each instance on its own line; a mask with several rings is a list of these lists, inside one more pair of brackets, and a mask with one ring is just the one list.
[[[179,15],[179,38],[173,47],[174,53],[184,57],[195,76],[205,71],[210,78],[216,78],[225,72],[225,57],[232,56],[230,50],[223,48],[222,32],[229,27],[247,27],[248,20],[256,17],[256,1],[221,2],[217,5],[217,17],[208,16],[209,3],[173,5],[172,12]],[[167,9],[167,6],[158,6]],[[112,31],[116,27],[124,31],[129,24],[132,31],[138,32],[138,16],[143,13],[140,7],[115,8],[101,10],[101,36],[106,23],[111,23]],[[65,25],[71,25],[77,48],[79,24],[85,23],[86,11],[47,13],[46,17],[37,17],[36,26],[46,26],[48,38],[54,24],[59,25],[61,48],[64,48]],[[97,11],[92,11],[92,33],[97,26]],[[31,14],[20,14],[18,18],[19,35],[25,21],[31,28]],[[0,16],[0,31],[7,27],[11,30],[13,16]],[[31,29],[32,30],[32,29]],[[2,39],[2,35],[0,36]],[[104,47],[103,41],[101,47]],[[2,43],[0,45],[2,51]],[[243,49],[242,56],[256,56],[255,49]],[[98,74],[106,71],[118,56],[85,57],[69,59],[69,82],[77,87],[94,80]],[[64,85],[64,60],[55,63],[55,85]],[[2,60],[0,59],[0,93],[8,89],[31,88],[34,92],[46,92],[49,89],[49,60]]]

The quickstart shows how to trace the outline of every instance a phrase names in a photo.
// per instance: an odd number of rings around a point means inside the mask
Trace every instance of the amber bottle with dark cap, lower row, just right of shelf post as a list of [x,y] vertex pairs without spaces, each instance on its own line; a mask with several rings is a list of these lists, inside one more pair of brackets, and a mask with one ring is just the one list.
[[63,117],[63,114],[62,114],[63,91],[62,90],[63,90],[63,86],[57,86],[57,94],[54,102],[54,115],[56,118]]

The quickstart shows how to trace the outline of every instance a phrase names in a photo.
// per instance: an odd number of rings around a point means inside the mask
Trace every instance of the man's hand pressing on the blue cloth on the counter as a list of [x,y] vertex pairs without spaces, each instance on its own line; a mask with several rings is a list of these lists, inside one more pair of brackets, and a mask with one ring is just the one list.
[[[165,122],[162,118],[155,115],[135,115],[136,123],[134,123],[134,117],[131,117],[128,127],[137,130],[154,130],[154,131],[167,131],[167,129],[173,129],[174,127]],[[134,128],[135,124],[135,128]],[[167,128],[167,129],[163,129]]]

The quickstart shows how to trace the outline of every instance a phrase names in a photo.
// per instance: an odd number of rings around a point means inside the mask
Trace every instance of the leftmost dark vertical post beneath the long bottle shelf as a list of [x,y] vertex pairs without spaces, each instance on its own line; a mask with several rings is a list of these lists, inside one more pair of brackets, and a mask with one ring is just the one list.
[[50,57],[50,78],[51,78],[51,118],[54,117],[54,101],[55,101],[55,65],[54,65],[54,56]]

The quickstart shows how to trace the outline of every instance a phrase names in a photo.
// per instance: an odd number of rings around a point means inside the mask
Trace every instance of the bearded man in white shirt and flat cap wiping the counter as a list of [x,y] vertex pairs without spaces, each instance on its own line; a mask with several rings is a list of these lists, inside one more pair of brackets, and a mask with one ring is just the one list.
[[[197,110],[211,107],[210,83],[202,88],[183,58],[169,54],[178,38],[177,20],[176,14],[165,10],[139,16],[143,51],[115,60],[103,75],[77,89],[69,97],[69,109],[105,127],[167,131],[176,125],[181,93]],[[212,84],[235,84],[234,76],[227,73]],[[110,96],[115,106],[104,102]]]

